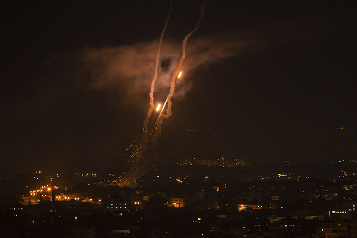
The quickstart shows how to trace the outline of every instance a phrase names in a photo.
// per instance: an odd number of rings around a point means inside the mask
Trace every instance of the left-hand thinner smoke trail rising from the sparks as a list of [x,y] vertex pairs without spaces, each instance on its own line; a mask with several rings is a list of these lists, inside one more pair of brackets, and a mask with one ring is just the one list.
[[158,76],[158,65],[159,65],[159,57],[160,57],[160,51],[161,51],[161,45],[162,45],[162,39],[164,38],[164,33],[165,30],[167,28],[167,23],[170,19],[170,14],[171,14],[171,7],[172,7],[172,0],[170,1],[170,7],[169,7],[169,12],[167,14],[167,18],[165,21],[165,27],[161,32],[161,37],[160,37],[160,42],[159,42],[159,46],[158,46],[158,54],[156,55],[156,64],[155,64],[155,72],[154,72],[154,78],[151,81],[151,89],[150,89],[150,108],[146,113],[146,117],[144,120],[144,125],[143,125],[143,137],[142,137],[142,141],[141,141],[141,149],[144,155],[145,151],[146,151],[146,142],[147,142],[147,123],[149,122],[149,118],[151,116],[152,110],[154,110],[154,86],[155,86],[155,81],[156,78]]

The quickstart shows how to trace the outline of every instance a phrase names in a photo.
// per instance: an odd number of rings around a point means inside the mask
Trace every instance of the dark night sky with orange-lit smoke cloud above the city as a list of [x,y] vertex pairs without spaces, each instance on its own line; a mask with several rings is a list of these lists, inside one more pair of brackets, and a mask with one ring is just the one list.
[[[155,103],[201,4],[173,1]],[[163,0],[3,1],[0,176],[126,170],[168,9]],[[209,1],[187,42],[161,160],[356,158],[356,10],[355,1]]]

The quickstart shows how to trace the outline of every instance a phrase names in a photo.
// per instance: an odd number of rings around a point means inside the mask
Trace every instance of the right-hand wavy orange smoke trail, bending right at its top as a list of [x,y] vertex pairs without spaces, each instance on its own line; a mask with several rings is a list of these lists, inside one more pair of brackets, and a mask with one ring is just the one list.
[[[171,78],[171,87],[170,87],[170,93],[166,98],[167,101],[167,110],[166,110],[166,114],[161,115],[158,117],[158,120],[156,122],[156,133],[154,135],[154,137],[152,138],[152,145],[155,147],[157,145],[157,140],[159,139],[160,135],[161,135],[161,128],[162,128],[162,123],[163,123],[163,119],[165,118],[169,118],[172,115],[171,112],[171,106],[172,106],[172,102],[171,102],[171,97],[173,96],[174,92],[175,92],[175,85],[176,85],[176,76],[177,74],[179,74],[180,72],[180,68],[182,66],[182,63],[184,62],[185,58],[186,58],[186,44],[188,41],[188,38],[195,32],[197,31],[200,22],[203,20],[203,15],[205,14],[205,6],[207,4],[208,0],[206,2],[204,2],[201,6],[201,16],[198,19],[195,28],[185,36],[183,42],[182,42],[182,56],[181,59],[179,61],[179,63],[177,63],[177,66],[175,68],[175,71],[172,75]],[[162,110],[164,110],[164,107],[162,108]]]

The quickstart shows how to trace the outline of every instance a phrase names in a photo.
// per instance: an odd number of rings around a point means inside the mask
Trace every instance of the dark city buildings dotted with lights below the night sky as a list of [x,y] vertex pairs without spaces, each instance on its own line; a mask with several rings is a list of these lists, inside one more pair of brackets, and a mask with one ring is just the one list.
[[22,195],[19,178],[1,180],[0,236],[357,237],[353,174],[331,181],[259,176],[217,179],[203,173],[199,180],[157,169],[131,189],[78,174],[63,181],[52,177],[51,184]]

